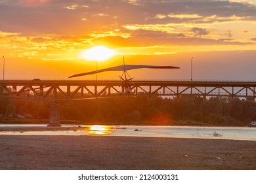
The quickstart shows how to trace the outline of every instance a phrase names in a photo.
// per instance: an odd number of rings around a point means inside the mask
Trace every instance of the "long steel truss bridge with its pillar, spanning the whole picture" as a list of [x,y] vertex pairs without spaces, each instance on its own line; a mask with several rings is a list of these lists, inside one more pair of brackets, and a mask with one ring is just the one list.
[[244,97],[255,99],[255,81],[132,80],[125,93],[120,80],[0,80],[0,97],[53,101],[49,125],[60,125],[58,101],[104,97],[163,96]]

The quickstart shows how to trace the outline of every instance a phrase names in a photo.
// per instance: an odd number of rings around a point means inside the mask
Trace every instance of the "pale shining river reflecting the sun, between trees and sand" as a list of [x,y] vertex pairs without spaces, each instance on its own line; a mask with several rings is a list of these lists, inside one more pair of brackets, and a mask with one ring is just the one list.
[[[7,125],[1,127],[45,127],[46,125]],[[78,125],[62,125],[74,127]],[[144,125],[81,125],[71,131],[0,131],[0,135],[108,135],[126,137],[167,137],[189,139],[229,139],[256,141],[255,127],[190,127]],[[215,134],[215,135],[214,135]]]

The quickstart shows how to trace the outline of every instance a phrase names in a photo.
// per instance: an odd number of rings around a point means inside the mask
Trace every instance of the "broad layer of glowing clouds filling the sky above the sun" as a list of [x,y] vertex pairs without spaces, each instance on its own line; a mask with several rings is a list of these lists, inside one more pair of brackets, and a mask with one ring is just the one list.
[[255,41],[256,6],[239,1],[0,0],[0,5],[1,43],[13,44],[15,52],[30,47],[27,53],[33,56],[45,55],[45,50],[61,55],[95,44],[239,49]]

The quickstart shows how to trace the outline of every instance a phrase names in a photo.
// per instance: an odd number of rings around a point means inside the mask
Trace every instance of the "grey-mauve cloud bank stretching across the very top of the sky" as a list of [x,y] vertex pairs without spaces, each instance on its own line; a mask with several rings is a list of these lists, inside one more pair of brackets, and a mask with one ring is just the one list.
[[[28,6],[30,2],[33,2],[33,6]],[[95,16],[97,14],[99,16]],[[166,18],[157,19],[157,14],[166,15]],[[99,29],[101,31],[118,29],[124,24],[202,21],[196,17],[168,17],[169,14],[198,14],[202,17],[216,15],[216,18],[224,18],[219,20],[213,18],[208,20],[209,22],[231,21],[232,16],[244,20],[256,20],[256,7],[249,3],[196,0],[137,0],[134,4],[128,0],[5,0],[0,3],[0,31],[35,35],[38,33],[87,33]]]

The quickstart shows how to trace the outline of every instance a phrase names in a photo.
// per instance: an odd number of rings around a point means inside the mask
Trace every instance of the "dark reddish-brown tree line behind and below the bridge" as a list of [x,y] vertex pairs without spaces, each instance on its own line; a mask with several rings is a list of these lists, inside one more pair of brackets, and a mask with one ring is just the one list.
[[[74,121],[81,124],[245,126],[256,120],[256,102],[239,98],[125,96],[59,104],[62,124]],[[49,101],[0,98],[0,122],[18,116],[49,119],[50,105]]]

